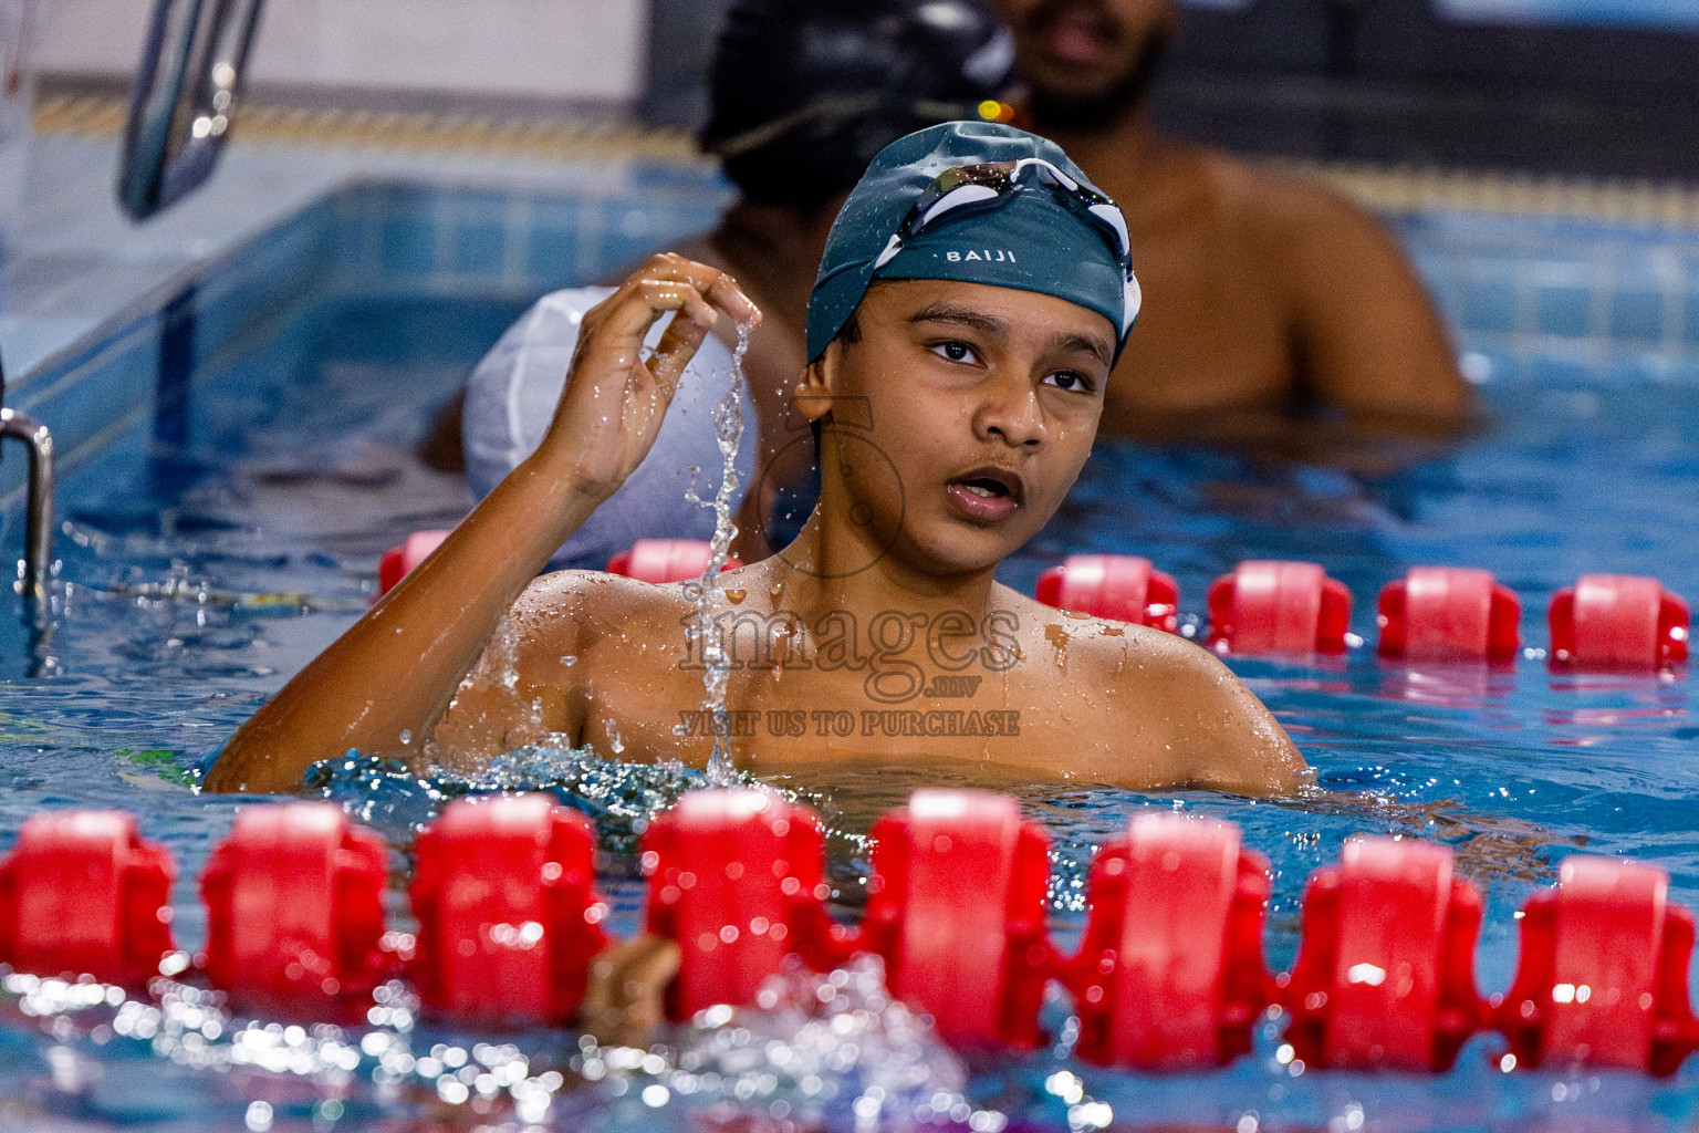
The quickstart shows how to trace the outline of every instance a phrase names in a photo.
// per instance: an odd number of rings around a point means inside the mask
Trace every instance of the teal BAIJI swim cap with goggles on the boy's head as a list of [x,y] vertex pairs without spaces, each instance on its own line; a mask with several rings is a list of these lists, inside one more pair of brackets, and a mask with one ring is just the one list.
[[1055,143],[997,122],[945,122],[885,146],[826,238],[809,297],[819,358],[878,279],[1035,290],[1096,311],[1120,358],[1138,316],[1126,221]]

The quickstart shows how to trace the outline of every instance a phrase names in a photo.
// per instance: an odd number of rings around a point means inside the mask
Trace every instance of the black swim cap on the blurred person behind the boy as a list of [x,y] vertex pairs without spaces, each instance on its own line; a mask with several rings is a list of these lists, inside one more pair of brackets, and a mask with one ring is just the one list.
[[702,148],[744,199],[814,211],[897,138],[984,117],[1013,66],[1008,31],[979,0],[737,0]]

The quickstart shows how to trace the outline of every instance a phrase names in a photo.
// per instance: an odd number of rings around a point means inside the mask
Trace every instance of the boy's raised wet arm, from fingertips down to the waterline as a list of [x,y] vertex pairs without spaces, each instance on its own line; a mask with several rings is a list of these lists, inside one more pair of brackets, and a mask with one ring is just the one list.
[[[644,336],[669,311],[671,326],[644,358]],[[652,256],[588,311],[537,452],[238,729],[207,790],[296,790],[311,763],[350,747],[421,759],[413,737],[435,727],[549,555],[647,455],[685,364],[722,311],[742,323],[761,318],[731,277],[675,255]],[[493,703],[481,717],[491,744],[518,727],[506,712],[520,708]]]

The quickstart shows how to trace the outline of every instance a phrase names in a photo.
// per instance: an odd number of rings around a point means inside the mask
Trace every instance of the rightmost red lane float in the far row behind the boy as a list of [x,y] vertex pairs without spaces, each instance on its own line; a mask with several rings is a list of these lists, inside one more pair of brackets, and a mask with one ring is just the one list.
[[1667,669],[1687,661],[1687,603],[1655,578],[1583,574],[1546,612],[1551,664],[1578,669]]

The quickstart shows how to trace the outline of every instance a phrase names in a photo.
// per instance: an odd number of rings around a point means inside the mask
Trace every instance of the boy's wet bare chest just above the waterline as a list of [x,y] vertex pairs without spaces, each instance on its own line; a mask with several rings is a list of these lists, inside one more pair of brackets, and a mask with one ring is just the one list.
[[[707,759],[715,742],[756,773],[844,759],[936,758],[1045,769],[1147,761],[1162,720],[1118,674],[1070,662],[1006,623],[889,623],[807,651],[727,640],[724,712],[705,703],[705,661],[675,647],[603,657],[581,690],[579,739],[630,759]],[[1086,679],[1086,669],[1092,676]],[[586,674],[591,676],[591,674]],[[1123,674],[1126,676],[1126,674]],[[1130,678],[1128,678],[1130,679]]]

